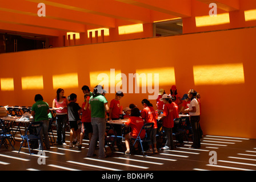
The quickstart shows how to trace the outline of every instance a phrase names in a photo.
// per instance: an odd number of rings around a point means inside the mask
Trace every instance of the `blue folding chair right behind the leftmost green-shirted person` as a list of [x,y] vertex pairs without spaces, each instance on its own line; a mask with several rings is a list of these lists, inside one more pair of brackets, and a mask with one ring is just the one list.
[[[41,135],[40,135],[42,125],[43,125],[43,122],[41,122],[41,121],[30,123],[29,127],[26,130],[26,134],[21,135],[21,138],[22,138],[21,147],[23,145],[23,142],[26,141],[27,146],[29,147],[30,154],[33,154],[33,153],[31,153],[31,151],[30,151],[29,142],[36,142],[38,140],[41,140],[41,143],[43,143],[43,140],[41,139]],[[19,151],[21,151],[21,147],[19,147]],[[32,147],[32,150],[33,150],[33,147]]]

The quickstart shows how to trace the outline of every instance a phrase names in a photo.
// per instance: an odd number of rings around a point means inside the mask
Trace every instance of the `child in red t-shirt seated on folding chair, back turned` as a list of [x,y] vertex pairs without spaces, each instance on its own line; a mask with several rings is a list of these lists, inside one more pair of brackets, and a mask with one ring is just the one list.
[[[130,118],[125,122],[125,126],[131,127],[131,132],[125,135],[125,145],[126,145],[125,154],[126,155],[130,154],[131,138],[136,139],[138,137],[139,131],[141,131],[142,126],[144,125],[144,121],[140,116],[141,116],[141,113],[139,112],[139,109],[137,107],[134,107],[131,110]],[[142,130],[139,137],[145,138],[145,134],[146,134],[145,130]],[[138,143],[135,144],[135,150],[138,150]]]

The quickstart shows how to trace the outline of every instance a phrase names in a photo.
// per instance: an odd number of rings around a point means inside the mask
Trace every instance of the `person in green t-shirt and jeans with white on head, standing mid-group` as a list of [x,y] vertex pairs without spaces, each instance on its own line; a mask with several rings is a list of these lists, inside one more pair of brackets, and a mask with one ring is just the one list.
[[105,154],[105,132],[106,119],[105,110],[109,111],[106,98],[102,95],[103,88],[101,85],[95,86],[93,96],[90,97],[89,109],[91,110],[91,125],[93,126],[93,137],[91,138],[87,157],[94,155],[95,145],[99,138],[99,158],[106,158]]

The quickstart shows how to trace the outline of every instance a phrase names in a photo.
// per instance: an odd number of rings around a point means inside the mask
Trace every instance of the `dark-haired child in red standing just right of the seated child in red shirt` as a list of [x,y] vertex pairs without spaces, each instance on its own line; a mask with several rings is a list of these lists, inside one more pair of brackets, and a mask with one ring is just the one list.
[[[154,127],[153,127],[153,130],[151,131],[151,133],[147,133],[147,136],[150,138],[150,142],[148,143],[149,150],[147,150],[146,152],[149,154],[153,154],[154,152],[158,153],[157,137],[156,137],[156,135],[157,135],[157,119],[155,117],[154,108],[153,108],[152,104],[149,102],[149,100],[143,99],[141,103],[144,107],[144,109],[141,111],[142,119],[145,120],[145,123],[150,123],[150,122],[154,123]],[[152,143],[154,146],[154,152],[153,152]]]

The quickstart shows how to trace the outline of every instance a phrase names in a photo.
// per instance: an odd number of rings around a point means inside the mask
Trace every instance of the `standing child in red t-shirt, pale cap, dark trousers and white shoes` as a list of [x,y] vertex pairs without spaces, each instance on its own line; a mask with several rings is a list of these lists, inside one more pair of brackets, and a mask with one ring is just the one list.
[[163,107],[163,116],[160,120],[163,121],[163,130],[165,131],[166,143],[162,150],[173,150],[175,148],[173,142],[173,126],[174,119],[179,117],[177,105],[175,105],[167,94],[164,94],[162,99],[165,106]]

